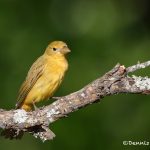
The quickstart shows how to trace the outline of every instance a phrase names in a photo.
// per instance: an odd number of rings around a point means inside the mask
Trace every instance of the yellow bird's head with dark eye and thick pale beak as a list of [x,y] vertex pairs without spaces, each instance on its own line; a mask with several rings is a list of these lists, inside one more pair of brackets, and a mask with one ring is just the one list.
[[51,42],[45,51],[47,55],[66,55],[69,52],[71,51],[67,44],[62,41]]

